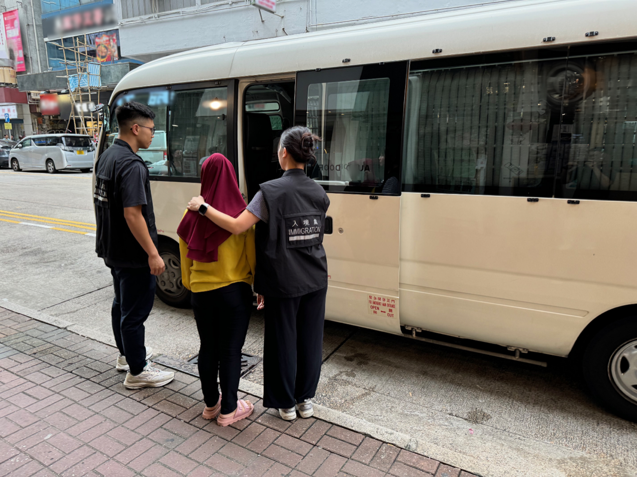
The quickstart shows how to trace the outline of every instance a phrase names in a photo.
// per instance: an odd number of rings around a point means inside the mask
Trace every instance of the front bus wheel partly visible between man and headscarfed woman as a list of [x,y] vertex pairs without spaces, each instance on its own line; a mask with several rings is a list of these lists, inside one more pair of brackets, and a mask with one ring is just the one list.
[[157,277],[155,293],[159,299],[176,308],[190,307],[190,290],[182,284],[182,264],[179,245],[172,240],[159,240],[159,256],[164,259],[166,270]]

